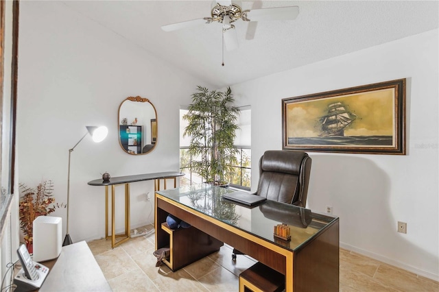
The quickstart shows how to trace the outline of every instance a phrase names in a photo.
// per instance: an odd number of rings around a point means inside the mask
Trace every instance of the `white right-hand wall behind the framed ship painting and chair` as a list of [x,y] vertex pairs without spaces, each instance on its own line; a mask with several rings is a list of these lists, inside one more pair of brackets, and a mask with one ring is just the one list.
[[[312,153],[307,207],[333,207],[342,247],[439,279],[438,30],[232,86],[252,106],[252,188],[281,149],[281,99],[407,78],[407,155]],[[407,234],[396,222],[407,222]]]

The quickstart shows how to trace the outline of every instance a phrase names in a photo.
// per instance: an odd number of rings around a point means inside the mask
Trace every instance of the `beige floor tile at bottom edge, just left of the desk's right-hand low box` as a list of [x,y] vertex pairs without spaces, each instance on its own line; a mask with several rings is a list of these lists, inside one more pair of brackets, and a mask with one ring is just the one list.
[[209,291],[239,291],[239,279],[230,271],[220,267],[198,279]]

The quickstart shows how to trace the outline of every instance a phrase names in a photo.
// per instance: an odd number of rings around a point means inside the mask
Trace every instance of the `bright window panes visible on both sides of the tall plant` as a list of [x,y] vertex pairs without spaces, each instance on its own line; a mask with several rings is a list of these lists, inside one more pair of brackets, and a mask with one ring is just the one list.
[[[189,153],[190,138],[184,137],[187,121],[183,116],[188,111],[180,109],[180,171],[185,175],[180,177],[180,186],[199,184],[202,182],[200,175],[194,173],[191,169],[191,162],[195,158]],[[230,182],[231,186],[250,190],[251,183],[251,110],[249,107],[241,108],[241,114],[238,118],[239,131],[236,133],[235,145],[239,151],[237,155],[238,165],[231,165],[233,171],[224,173],[224,178]],[[186,167],[184,167],[186,166]]]

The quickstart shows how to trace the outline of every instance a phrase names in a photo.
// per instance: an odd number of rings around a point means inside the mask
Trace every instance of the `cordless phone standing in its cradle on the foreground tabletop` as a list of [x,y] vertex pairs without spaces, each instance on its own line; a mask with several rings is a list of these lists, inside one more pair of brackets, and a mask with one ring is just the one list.
[[19,255],[22,268],[14,278],[14,284],[16,284],[16,291],[32,291],[39,289],[43,284],[49,268],[39,263],[36,263],[30,257],[29,252],[25,245],[20,245],[16,251]]

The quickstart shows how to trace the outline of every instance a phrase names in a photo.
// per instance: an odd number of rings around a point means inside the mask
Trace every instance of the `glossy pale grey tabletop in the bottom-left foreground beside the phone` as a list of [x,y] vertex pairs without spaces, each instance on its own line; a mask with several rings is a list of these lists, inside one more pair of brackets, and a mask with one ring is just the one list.
[[56,260],[41,263],[50,270],[39,291],[112,291],[85,241],[66,245]]

